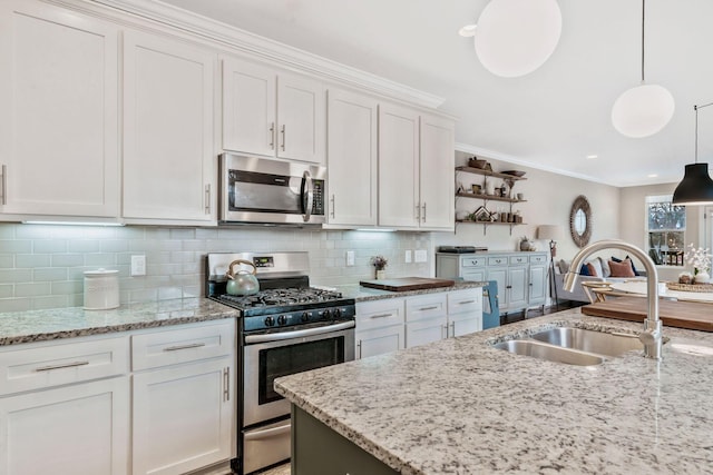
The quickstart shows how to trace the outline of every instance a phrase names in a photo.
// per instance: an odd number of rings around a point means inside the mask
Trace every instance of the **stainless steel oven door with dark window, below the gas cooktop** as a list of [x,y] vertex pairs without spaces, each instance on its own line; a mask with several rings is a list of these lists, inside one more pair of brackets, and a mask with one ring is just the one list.
[[243,426],[290,414],[273,382],[354,359],[354,321],[245,336]]

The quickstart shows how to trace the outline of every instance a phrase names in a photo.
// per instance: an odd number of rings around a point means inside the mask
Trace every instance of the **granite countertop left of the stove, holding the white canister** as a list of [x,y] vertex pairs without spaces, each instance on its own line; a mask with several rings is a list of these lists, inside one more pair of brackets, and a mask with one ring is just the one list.
[[111,310],[81,307],[0,314],[0,346],[235,318],[236,310],[207,298],[123,305]]

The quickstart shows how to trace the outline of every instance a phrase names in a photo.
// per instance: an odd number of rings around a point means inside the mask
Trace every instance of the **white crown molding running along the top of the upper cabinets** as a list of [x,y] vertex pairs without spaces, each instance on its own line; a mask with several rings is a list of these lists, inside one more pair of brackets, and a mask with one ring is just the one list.
[[94,3],[108,7],[187,33],[197,34],[231,50],[273,62],[277,67],[310,73],[323,80],[353,88],[365,89],[369,92],[411,105],[437,109],[446,100],[442,97],[322,58],[158,0],[53,0],[53,2],[75,6],[77,3]]

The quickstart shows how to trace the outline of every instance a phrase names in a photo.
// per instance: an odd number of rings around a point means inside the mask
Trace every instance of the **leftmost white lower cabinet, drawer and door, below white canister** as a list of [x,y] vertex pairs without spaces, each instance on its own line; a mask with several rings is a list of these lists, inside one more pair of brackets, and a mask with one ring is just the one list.
[[126,348],[126,338],[3,348],[0,473],[130,473]]

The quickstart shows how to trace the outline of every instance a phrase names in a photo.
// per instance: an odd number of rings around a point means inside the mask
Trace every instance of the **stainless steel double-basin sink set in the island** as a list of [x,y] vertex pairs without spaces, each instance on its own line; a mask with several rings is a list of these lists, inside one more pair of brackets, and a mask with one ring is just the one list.
[[501,342],[492,346],[516,355],[578,366],[600,365],[607,358],[644,348],[637,335],[573,327],[549,328],[526,338]]

